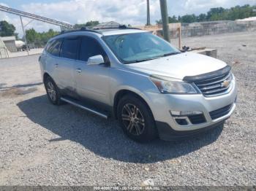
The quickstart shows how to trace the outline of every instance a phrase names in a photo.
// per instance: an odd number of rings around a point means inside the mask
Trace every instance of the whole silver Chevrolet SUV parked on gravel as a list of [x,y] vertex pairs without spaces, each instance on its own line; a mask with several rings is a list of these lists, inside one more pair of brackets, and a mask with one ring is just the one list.
[[52,104],[114,117],[135,141],[180,139],[217,127],[236,107],[230,66],[135,28],[59,34],[39,63]]

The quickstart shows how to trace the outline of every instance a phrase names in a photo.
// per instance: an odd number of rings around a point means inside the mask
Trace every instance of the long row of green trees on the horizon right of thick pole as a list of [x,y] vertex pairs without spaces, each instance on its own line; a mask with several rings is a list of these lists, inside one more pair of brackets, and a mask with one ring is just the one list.
[[[169,17],[169,23],[194,23],[211,20],[236,20],[246,17],[255,17],[256,12],[253,12],[256,6],[250,6],[245,4],[244,6],[231,7],[230,9],[224,9],[223,7],[211,8],[207,14],[200,15],[183,15],[178,18],[173,15]],[[157,20],[157,24],[162,24],[162,20]]]

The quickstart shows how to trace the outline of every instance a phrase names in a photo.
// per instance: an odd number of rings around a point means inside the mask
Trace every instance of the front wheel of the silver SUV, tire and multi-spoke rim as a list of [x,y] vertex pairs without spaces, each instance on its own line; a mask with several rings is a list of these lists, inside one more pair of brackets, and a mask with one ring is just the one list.
[[124,133],[141,143],[157,138],[157,128],[148,106],[135,95],[125,95],[118,101],[118,122]]

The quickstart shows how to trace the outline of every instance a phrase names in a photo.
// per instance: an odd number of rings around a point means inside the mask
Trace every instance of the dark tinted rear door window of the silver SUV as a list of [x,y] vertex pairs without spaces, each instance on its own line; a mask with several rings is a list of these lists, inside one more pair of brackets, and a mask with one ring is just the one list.
[[61,45],[61,54],[63,58],[76,59],[78,52],[78,38],[64,39]]

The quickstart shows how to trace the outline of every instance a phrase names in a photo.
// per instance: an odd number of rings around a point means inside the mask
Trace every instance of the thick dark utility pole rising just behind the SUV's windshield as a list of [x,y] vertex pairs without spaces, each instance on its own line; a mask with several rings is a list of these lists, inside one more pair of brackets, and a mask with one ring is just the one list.
[[167,1],[159,0],[161,7],[161,15],[162,15],[162,31],[164,33],[164,39],[167,42],[170,42],[170,31],[169,31],[169,21],[168,21],[168,12],[167,12]]

